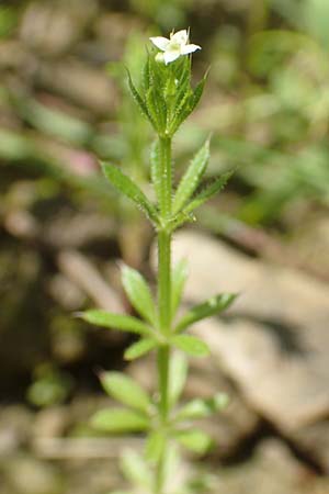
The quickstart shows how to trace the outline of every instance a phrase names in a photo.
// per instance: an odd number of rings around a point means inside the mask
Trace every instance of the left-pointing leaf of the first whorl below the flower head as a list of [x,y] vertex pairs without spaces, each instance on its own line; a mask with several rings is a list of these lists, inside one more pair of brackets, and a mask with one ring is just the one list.
[[155,224],[158,223],[156,207],[147,199],[145,193],[133,180],[121,171],[120,168],[102,162],[102,168],[107,180],[141,210]]

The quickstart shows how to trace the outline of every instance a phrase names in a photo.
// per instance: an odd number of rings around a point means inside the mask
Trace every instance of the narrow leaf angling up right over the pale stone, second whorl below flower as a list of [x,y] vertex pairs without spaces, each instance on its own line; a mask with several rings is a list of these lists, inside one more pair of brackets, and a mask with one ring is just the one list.
[[197,321],[219,314],[227,308],[236,297],[236,293],[223,293],[220,295],[212,296],[212,299],[202,304],[195,305],[179,321],[174,333],[181,333]]

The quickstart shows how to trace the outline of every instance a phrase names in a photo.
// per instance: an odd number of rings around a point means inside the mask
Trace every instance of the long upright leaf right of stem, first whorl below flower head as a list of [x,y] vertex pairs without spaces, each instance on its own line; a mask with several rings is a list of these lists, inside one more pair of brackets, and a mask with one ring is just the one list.
[[186,172],[182,177],[172,203],[172,212],[177,214],[192,197],[203,177],[209,160],[209,139],[192,159]]

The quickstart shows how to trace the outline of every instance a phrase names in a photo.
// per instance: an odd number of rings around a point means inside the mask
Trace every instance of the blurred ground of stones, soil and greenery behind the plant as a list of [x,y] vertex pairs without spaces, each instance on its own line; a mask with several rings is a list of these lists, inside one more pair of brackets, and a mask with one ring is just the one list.
[[[213,133],[208,177],[236,173],[178,233],[185,303],[241,292],[200,325],[212,359],[185,397],[225,391],[205,422],[214,451],[190,492],[329,493],[328,0],[0,1],[0,494],[107,494],[139,438],[97,436],[98,370],[145,385],[126,337],[75,318],[131,311],[121,260],[154,281],[152,232],[100,175],[118,164],[148,188],[154,135],[126,87],[148,36],[191,27],[211,66],[175,137],[178,177]],[[186,463],[188,464],[188,463]]]

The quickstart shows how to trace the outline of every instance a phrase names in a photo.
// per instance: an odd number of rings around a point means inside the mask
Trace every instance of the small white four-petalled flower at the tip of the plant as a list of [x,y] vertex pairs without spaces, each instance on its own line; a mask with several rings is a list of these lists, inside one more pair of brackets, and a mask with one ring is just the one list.
[[170,61],[175,60],[181,55],[189,55],[196,49],[201,49],[201,46],[189,44],[189,34],[186,30],[178,31],[177,33],[171,33],[170,38],[162,36],[150,37],[150,41],[157,48],[163,52],[158,54],[158,59],[163,59],[164,64],[170,64]]

